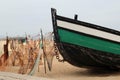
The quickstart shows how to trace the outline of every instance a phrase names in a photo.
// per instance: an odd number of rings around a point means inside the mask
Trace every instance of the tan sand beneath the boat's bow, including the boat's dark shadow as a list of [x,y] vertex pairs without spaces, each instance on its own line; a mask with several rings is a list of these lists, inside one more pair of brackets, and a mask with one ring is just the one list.
[[70,65],[67,62],[61,63],[54,59],[52,71],[44,73],[44,67],[40,67],[40,72],[36,72],[35,76],[45,77],[55,80],[119,80],[120,71],[95,70],[79,68]]

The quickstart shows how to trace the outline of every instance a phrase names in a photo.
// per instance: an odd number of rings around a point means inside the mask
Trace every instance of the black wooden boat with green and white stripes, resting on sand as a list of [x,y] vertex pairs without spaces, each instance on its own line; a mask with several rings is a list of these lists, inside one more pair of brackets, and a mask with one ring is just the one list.
[[120,32],[57,15],[51,9],[55,42],[65,61],[78,67],[120,68]]

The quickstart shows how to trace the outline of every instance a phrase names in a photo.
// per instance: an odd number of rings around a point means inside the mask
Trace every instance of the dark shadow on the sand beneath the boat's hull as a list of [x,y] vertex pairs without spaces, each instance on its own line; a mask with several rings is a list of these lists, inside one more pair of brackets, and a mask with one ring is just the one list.
[[74,76],[86,76],[86,77],[107,77],[107,76],[120,76],[120,70],[111,70],[111,69],[85,69],[78,70],[70,75]]

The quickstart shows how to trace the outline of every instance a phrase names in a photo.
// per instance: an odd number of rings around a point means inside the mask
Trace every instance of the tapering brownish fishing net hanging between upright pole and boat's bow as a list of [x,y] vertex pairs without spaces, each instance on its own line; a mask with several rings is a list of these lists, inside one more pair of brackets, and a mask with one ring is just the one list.
[[53,33],[52,32],[49,32],[44,35],[43,45],[44,45],[44,52],[46,55],[48,68],[51,71],[53,57],[54,57],[54,41],[53,41]]

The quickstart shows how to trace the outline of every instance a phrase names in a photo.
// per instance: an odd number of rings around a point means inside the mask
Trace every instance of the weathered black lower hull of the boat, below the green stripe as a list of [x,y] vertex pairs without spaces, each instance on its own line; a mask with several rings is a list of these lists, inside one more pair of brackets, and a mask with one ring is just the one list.
[[78,67],[120,68],[120,55],[61,43],[59,51],[66,61]]

